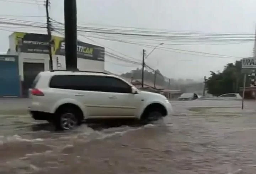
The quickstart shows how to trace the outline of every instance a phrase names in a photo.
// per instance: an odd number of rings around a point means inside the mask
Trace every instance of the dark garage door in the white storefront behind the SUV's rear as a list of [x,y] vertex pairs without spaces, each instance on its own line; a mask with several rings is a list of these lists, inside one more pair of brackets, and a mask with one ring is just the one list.
[[28,97],[28,89],[31,87],[37,74],[44,71],[43,63],[23,63],[23,96]]

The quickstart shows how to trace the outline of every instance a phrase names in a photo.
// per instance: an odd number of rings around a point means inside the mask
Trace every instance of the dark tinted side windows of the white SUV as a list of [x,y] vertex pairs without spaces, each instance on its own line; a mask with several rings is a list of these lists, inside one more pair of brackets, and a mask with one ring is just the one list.
[[131,87],[115,77],[94,75],[56,75],[49,84],[50,88],[131,93]]

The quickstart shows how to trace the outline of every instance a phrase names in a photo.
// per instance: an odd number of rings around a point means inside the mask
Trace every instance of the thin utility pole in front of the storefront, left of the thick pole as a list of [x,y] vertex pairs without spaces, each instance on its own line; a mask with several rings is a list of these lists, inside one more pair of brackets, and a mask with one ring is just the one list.
[[49,37],[49,64],[50,69],[53,69],[53,60],[52,60],[52,33],[51,33],[51,24],[50,24],[50,17],[49,17],[49,0],[46,0],[46,23],[47,23],[47,33]]

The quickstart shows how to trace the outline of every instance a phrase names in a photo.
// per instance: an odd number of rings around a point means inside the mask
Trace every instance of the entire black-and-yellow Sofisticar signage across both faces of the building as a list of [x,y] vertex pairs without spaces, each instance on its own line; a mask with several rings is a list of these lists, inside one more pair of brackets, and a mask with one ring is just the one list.
[[[15,32],[16,52],[49,53],[49,41],[53,41],[52,54],[65,56],[65,39],[45,34]],[[105,61],[105,48],[89,43],[77,42],[77,57],[83,59]]]

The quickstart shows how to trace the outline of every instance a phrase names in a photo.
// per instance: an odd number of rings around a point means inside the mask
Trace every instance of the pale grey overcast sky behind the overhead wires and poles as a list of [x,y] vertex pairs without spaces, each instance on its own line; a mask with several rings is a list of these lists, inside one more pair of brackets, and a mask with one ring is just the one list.
[[[11,2],[12,1],[12,2]],[[16,1],[13,2],[13,1]],[[63,0],[50,0],[50,16],[60,22],[64,22]],[[26,3],[17,3],[26,2]],[[37,4],[33,4],[37,2]],[[32,3],[32,4],[29,4]],[[45,8],[43,0],[1,0],[0,17],[15,18],[28,21],[44,22],[44,17],[10,17],[18,16],[43,16]],[[256,25],[256,1],[255,0],[77,0],[78,23],[95,23],[102,26],[117,25],[123,27],[154,28],[174,31],[200,31],[207,33],[255,33]],[[0,29],[3,29],[0,27]],[[14,30],[14,29],[12,29]],[[17,28],[20,30],[20,28]],[[6,52],[9,47],[8,35],[10,32],[1,31],[0,51]],[[86,34],[89,36],[89,34]],[[92,36],[95,36],[92,34]],[[111,35],[110,38],[116,36]],[[106,41],[100,39],[87,40],[79,36],[79,39],[88,43],[105,46],[116,50],[108,50],[118,54],[121,52],[132,58],[142,61],[142,50],[149,53],[152,48],[141,47],[126,43]],[[120,39],[120,38],[118,38]],[[135,39],[136,42],[148,40]],[[159,41],[150,45],[158,45]],[[230,45],[164,45],[160,47],[178,48],[183,50],[225,54],[235,57],[251,57],[254,43],[244,41]],[[162,74],[170,78],[201,79],[208,76],[209,71],[222,70],[224,65],[234,62],[239,58],[216,58],[177,53],[163,50],[155,50],[146,63]],[[106,57],[105,68],[114,73],[123,73],[136,65],[119,62]]]

